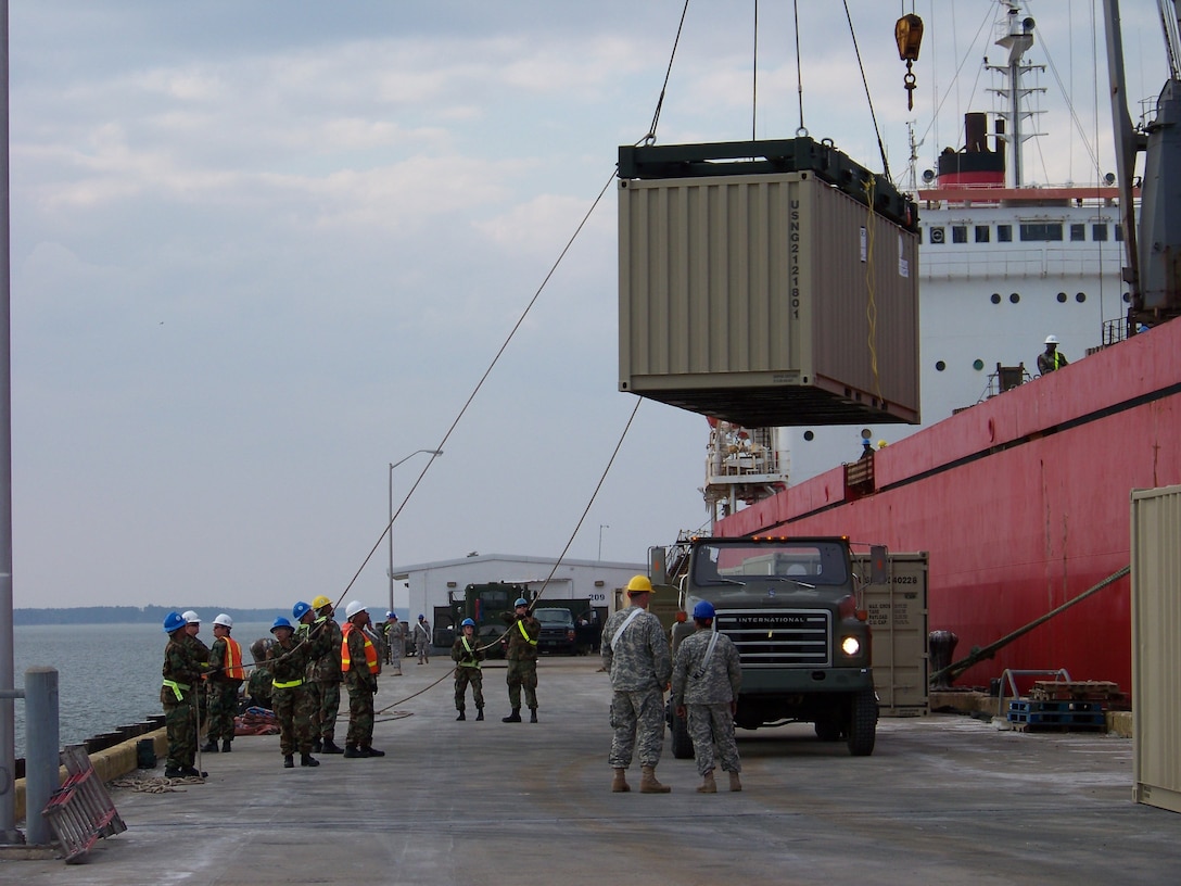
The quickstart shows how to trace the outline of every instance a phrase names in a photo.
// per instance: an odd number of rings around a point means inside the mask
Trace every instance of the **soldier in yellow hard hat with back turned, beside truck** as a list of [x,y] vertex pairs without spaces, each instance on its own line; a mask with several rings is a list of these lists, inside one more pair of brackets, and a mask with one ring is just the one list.
[[672,676],[668,639],[660,619],[647,611],[652,582],[635,575],[627,582],[631,605],[607,619],[602,628],[602,666],[611,675],[611,740],[607,762],[615,770],[611,789],[632,788],[626,771],[639,745],[640,793],[667,794],[655,768],[664,747],[664,690]]

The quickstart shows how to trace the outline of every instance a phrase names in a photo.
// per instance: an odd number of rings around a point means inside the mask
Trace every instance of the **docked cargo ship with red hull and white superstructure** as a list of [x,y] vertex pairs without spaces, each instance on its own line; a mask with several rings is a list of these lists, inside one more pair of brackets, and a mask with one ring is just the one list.
[[[1143,203],[1127,159],[1118,185],[1113,174],[1029,187],[1019,158],[1035,22],[1000,6],[1007,60],[994,67],[1007,110],[970,115],[964,145],[945,150],[915,193],[922,425],[868,425],[859,438],[848,424],[755,434],[713,422],[706,501],[717,535],[837,534],[927,552],[928,624],[954,636],[957,660],[1061,608],[965,663],[958,686],[1004,669],[1064,669],[1130,688],[1129,496],[1181,483],[1177,282],[1169,271],[1154,278],[1154,262],[1175,255],[1176,226],[1157,215],[1176,202],[1181,161],[1160,145],[1149,154]],[[1175,128],[1173,64],[1140,130],[1150,148]],[[1121,207],[1157,224],[1141,236],[1138,288],[1124,282],[1135,228]],[[1040,376],[1050,335],[1071,361]],[[743,460],[757,474],[744,476]]]

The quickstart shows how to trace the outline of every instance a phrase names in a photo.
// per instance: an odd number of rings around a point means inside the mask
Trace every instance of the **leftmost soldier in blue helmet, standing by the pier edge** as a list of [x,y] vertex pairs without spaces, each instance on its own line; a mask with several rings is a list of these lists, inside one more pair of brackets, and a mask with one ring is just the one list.
[[[164,708],[164,725],[168,730],[168,762],[164,775],[169,778],[197,776],[208,773],[196,769],[197,757],[197,709],[201,695],[201,677],[205,671],[204,644],[187,630],[184,617],[170,612],[164,618],[168,645],[164,647],[164,685],[159,690],[159,703]],[[200,646],[198,646],[200,644]]]

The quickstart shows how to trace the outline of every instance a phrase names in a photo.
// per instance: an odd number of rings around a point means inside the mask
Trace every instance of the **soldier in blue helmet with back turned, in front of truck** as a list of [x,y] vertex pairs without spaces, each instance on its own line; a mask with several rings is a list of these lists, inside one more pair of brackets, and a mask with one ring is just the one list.
[[713,605],[702,600],[693,607],[697,631],[681,640],[672,666],[672,704],[678,717],[687,718],[689,737],[703,782],[700,794],[717,794],[713,781],[713,745],[722,770],[730,773],[730,789],[742,790],[735,712],[742,688],[738,650],[730,638],[713,631]]

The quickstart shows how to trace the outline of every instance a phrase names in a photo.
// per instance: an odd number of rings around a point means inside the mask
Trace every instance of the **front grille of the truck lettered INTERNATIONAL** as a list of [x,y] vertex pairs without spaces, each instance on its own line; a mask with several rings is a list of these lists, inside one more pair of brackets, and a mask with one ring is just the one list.
[[717,626],[743,667],[828,667],[830,617],[827,610],[718,610]]

